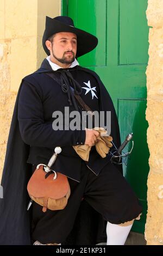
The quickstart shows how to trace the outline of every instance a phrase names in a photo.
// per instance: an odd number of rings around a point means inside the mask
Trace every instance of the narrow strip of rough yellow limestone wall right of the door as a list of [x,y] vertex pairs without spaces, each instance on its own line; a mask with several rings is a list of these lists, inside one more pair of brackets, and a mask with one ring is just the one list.
[[148,176],[147,245],[163,245],[163,0],[148,0],[147,67]]

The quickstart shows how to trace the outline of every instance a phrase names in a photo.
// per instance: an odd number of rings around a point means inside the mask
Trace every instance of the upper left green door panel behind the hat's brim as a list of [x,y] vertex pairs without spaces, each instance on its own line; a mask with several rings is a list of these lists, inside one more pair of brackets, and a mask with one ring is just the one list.
[[[85,8],[90,6],[91,8]],[[82,11],[81,11],[82,10]],[[101,10],[99,12],[99,10]],[[83,66],[105,66],[106,64],[106,1],[68,1],[68,16],[76,15],[75,26],[97,36],[100,47],[80,57]],[[93,14],[93,15],[92,15]],[[90,19],[91,17],[91,19]],[[88,23],[89,20],[89,23]],[[101,29],[102,28],[102,29]]]

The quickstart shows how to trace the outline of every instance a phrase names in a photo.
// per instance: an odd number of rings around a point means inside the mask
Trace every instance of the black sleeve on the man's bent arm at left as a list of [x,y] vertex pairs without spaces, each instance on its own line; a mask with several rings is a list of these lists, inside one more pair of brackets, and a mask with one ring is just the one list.
[[18,99],[18,122],[23,141],[35,147],[54,148],[84,144],[85,130],[57,130],[43,118],[41,93],[23,81]]

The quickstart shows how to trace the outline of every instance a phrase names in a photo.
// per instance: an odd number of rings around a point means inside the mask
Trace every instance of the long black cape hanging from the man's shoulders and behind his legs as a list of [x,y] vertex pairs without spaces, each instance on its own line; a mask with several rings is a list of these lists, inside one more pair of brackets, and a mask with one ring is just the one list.
[[[114,142],[118,147],[120,145],[118,121],[107,90],[95,72],[80,66],[77,66],[77,69],[89,72],[98,81],[101,95],[101,110],[111,111],[111,135],[114,137]],[[52,71],[45,59],[41,68],[36,72],[48,72],[49,70]],[[1,182],[3,198],[0,199],[0,245],[31,244],[30,211],[27,211],[26,208],[29,202],[27,183],[32,175],[32,166],[27,163],[29,145],[22,141],[17,120],[18,97],[22,83],[17,93],[12,116]],[[74,223],[74,228],[64,244],[95,245],[99,242],[105,242],[105,227],[106,222],[102,216],[83,200]]]

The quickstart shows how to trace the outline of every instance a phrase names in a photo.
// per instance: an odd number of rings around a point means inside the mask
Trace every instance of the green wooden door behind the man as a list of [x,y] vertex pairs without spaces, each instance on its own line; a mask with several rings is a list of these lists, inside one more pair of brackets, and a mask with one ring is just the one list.
[[76,27],[97,36],[97,48],[78,61],[96,71],[108,89],[117,111],[121,140],[129,132],[134,133],[134,150],[123,170],[143,205],[141,221],[134,222],[133,231],[143,233],[149,170],[145,120],[147,0],[63,0],[62,7],[62,14],[72,17]]

